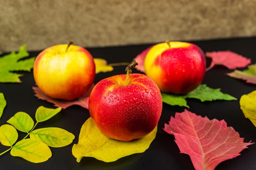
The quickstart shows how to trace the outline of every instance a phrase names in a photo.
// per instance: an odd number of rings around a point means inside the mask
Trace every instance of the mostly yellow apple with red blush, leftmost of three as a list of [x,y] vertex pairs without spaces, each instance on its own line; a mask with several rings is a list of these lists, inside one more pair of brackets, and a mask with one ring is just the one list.
[[73,100],[92,86],[95,64],[83,47],[67,44],[51,46],[36,57],[35,82],[46,95],[55,99]]

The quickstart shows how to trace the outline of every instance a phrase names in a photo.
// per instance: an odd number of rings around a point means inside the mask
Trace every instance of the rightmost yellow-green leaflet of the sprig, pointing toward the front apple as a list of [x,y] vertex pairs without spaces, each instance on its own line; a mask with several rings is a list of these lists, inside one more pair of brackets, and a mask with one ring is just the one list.
[[40,128],[30,133],[31,139],[36,139],[54,148],[67,146],[75,136],[62,128]]

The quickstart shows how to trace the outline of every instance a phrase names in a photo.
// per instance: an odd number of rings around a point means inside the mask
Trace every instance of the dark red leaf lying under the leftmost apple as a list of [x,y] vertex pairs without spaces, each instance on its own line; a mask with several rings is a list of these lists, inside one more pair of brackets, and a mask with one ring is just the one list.
[[91,86],[89,91],[87,91],[84,95],[81,97],[74,99],[72,101],[67,100],[61,100],[61,99],[54,99],[52,97],[47,96],[43,91],[40,90],[38,87],[32,87],[35,93],[35,96],[38,97],[38,99],[46,100],[47,102],[53,103],[56,107],[61,107],[63,109],[70,107],[72,105],[79,105],[83,108],[88,109],[88,103],[89,103],[89,96],[92,91],[94,84]]

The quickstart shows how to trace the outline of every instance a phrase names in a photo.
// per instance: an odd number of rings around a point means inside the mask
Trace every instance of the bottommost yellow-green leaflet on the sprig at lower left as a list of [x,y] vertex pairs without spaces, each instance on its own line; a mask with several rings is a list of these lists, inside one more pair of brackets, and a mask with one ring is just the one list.
[[11,149],[11,155],[14,157],[22,157],[33,163],[40,163],[52,157],[52,152],[50,148],[41,141],[22,139]]

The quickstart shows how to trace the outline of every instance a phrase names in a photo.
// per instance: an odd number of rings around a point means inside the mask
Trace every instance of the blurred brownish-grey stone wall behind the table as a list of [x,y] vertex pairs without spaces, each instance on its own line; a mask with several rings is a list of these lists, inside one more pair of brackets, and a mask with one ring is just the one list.
[[256,0],[0,0],[0,52],[256,35]]

